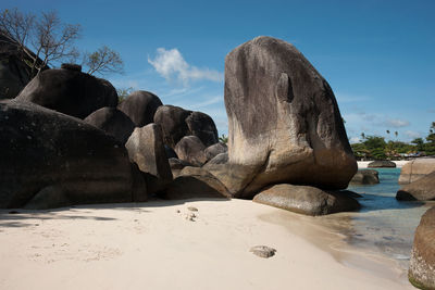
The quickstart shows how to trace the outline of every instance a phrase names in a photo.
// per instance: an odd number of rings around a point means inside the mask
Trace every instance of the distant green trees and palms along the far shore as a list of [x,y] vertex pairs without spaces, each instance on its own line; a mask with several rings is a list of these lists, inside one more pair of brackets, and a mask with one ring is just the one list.
[[[389,130],[386,131],[389,134]],[[399,135],[395,131],[395,137]],[[357,159],[397,160],[403,156],[435,155],[435,122],[425,138],[415,138],[410,143],[402,141],[385,141],[384,137],[361,133],[361,141],[351,144]]]

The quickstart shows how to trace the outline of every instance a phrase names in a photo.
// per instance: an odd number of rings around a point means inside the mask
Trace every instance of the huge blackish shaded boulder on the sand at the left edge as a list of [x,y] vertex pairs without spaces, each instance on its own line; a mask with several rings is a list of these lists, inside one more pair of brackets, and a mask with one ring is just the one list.
[[16,100],[0,102],[0,207],[146,199],[125,148],[102,130]]

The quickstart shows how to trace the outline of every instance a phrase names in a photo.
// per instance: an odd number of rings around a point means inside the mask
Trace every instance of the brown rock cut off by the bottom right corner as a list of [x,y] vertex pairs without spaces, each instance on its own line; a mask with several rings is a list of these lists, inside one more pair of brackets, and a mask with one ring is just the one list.
[[421,289],[435,289],[435,206],[421,218],[415,230],[409,280]]

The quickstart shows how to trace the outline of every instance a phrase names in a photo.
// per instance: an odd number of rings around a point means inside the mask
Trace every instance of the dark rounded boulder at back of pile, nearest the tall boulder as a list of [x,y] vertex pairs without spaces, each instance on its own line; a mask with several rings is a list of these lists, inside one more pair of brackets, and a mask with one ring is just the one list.
[[201,112],[191,112],[186,118],[186,124],[189,128],[188,135],[198,137],[206,147],[219,142],[216,126],[209,115]]

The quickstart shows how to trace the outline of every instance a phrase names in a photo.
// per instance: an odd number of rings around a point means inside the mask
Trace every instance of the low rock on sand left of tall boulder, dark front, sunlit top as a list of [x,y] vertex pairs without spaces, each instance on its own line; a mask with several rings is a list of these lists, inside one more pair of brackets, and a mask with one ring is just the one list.
[[225,186],[213,175],[200,167],[186,166],[169,186],[164,199],[181,200],[194,198],[228,198]]

